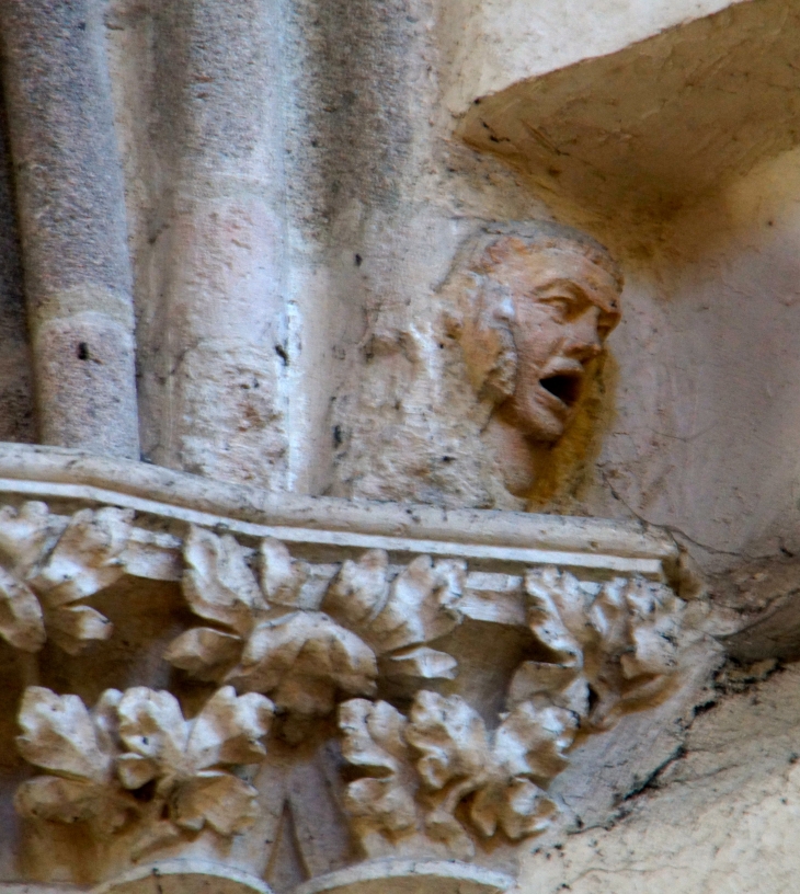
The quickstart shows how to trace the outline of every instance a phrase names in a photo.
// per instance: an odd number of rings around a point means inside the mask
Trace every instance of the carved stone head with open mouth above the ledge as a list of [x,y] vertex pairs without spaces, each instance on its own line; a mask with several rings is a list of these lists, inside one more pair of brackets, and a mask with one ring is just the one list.
[[619,322],[622,276],[594,239],[545,222],[498,230],[470,273],[458,337],[473,388],[494,404],[487,434],[505,485],[523,496]]

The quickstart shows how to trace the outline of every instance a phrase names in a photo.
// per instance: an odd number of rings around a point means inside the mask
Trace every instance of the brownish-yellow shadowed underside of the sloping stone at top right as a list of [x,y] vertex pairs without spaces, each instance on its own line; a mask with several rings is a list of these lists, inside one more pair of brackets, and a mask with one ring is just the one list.
[[800,142],[800,3],[748,0],[477,98],[471,146],[586,209],[661,216]]

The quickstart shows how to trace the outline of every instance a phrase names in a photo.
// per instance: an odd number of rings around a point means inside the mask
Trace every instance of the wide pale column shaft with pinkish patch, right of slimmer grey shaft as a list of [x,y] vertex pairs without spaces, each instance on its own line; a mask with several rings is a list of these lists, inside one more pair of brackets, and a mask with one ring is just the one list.
[[285,480],[287,363],[278,0],[173,0],[156,16],[153,285],[144,442],[157,463]]

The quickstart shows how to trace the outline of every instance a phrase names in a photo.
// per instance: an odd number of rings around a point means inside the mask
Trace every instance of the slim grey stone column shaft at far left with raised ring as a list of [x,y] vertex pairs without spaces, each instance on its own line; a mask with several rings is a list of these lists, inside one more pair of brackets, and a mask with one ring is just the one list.
[[95,0],[3,0],[42,440],[139,457],[125,199]]

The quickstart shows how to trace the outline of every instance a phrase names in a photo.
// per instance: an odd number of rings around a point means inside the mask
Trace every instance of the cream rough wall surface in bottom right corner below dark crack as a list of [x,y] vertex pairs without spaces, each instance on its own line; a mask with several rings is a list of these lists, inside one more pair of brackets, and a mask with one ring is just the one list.
[[685,752],[619,822],[528,857],[521,891],[789,891],[797,876],[798,679],[791,666],[694,722]]

